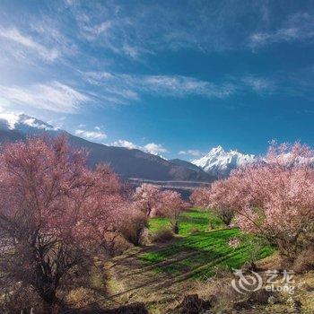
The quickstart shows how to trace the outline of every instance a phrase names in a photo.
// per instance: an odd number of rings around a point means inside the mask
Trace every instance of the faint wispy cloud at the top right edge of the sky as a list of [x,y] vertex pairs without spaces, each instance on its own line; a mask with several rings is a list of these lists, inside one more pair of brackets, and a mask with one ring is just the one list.
[[283,22],[283,26],[279,29],[251,34],[249,47],[259,48],[275,42],[312,38],[314,38],[314,17],[309,13],[295,13]]

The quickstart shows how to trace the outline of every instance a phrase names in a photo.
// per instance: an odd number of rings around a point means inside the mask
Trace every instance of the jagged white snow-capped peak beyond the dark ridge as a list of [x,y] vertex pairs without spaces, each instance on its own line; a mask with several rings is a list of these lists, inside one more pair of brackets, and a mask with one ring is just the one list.
[[191,162],[207,173],[222,178],[228,176],[231,170],[253,161],[255,161],[255,156],[252,154],[243,154],[232,150],[226,152],[222,146],[217,146],[204,157]]

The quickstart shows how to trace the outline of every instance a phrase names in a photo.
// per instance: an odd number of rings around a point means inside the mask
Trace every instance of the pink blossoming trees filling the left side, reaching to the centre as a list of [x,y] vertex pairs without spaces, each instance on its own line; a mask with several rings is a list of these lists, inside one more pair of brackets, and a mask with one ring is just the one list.
[[86,166],[87,153],[66,138],[6,144],[0,153],[0,285],[31,286],[58,302],[57,289],[90,255],[110,255],[123,239],[138,245],[151,215],[178,230],[178,193],[151,185],[135,194],[108,166]]

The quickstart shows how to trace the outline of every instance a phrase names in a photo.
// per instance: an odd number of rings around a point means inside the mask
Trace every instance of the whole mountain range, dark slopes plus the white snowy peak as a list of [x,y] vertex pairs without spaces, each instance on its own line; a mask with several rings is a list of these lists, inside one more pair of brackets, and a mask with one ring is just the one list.
[[27,136],[43,134],[67,135],[69,143],[74,147],[83,147],[89,151],[88,162],[91,166],[100,162],[109,163],[118,175],[136,182],[141,179],[213,182],[215,179],[227,177],[231,170],[256,160],[252,154],[232,150],[227,152],[222,146],[217,146],[205,156],[191,162],[180,159],[167,161],[161,156],[144,153],[138,149],[93,143],[24,114],[0,115],[0,143],[24,140]]

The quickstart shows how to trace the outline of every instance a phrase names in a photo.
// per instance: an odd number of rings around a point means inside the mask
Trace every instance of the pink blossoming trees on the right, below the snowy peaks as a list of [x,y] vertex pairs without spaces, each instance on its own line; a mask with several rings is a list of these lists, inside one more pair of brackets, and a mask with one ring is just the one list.
[[196,189],[191,200],[268,240],[293,265],[314,248],[313,156],[306,145],[273,143],[265,158]]

